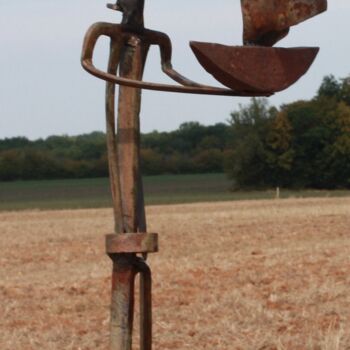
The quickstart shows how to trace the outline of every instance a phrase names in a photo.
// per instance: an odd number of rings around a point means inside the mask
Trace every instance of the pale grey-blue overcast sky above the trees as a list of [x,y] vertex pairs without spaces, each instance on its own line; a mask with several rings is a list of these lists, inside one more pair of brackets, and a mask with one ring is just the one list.
[[[91,24],[120,21],[119,13],[105,7],[107,1],[0,0],[0,139],[104,131],[104,82],[87,74],[79,59]],[[219,85],[199,65],[188,42],[241,45],[240,1],[145,2],[146,27],[172,39],[174,68],[192,80]],[[307,75],[269,98],[270,104],[312,98],[325,75],[350,74],[349,19],[349,0],[329,0],[328,12],[291,28],[276,46],[319,46],[321,51]],[[106,66],[108,49],[107,39],[101,39],[97,66]],[[156,48],[150,51],[144,79],[171,83],[160,70]],[[226,122],[249,99],[144,91],[142,102],[142,132],[150,132],[174,130],[187,121]]]

